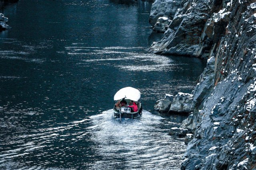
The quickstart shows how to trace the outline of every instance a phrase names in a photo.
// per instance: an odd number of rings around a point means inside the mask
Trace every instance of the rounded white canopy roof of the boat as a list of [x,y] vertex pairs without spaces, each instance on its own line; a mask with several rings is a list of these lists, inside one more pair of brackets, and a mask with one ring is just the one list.
[[120,100],[123,98],[138,101],[140,99],[140,91],[133,87],[124,87],[116,92],[114,100]]

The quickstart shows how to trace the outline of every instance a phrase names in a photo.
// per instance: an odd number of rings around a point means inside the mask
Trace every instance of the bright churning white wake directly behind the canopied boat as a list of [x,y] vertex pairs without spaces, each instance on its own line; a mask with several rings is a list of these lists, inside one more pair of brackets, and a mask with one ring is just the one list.
[[88,129],[102,156],[95,168],[179,169],[176,165],[181,163],[182,154],[177,150],[186,146],[184,139],[167,135],[168,127],[175,126],[170,120],[143,111],[142,117],[122,119],[120,123],[112,109],[90,119],[92,126]]

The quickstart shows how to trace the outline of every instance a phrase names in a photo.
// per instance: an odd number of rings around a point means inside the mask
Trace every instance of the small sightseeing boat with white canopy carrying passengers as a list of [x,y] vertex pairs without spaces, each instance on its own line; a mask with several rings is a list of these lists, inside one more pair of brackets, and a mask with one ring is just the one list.
[[[120,101],[126,101],[126,104],[122,105],[119,104]],[[138,89],[135,89],[133,87],[125,87],[120,89],[116,94],[114,95],[114,117],[115,118],[130,118],[134,119],[137,117],[140,117],[142,114],[142,105],[140,100],[140,91]],[[138,111],[133,111],[132,105],[137,105]],[[130,107],[129,107],[130,105]]]

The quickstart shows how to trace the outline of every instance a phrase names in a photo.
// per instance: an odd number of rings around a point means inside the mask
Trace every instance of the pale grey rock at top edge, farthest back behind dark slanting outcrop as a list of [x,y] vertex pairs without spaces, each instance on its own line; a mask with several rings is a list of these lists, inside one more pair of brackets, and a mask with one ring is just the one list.
[[155,0],[152,4],[149,16],[149,23],[154,26],[159,17],[167,17],[173,19],[176,10],[181,8],[182,0]]

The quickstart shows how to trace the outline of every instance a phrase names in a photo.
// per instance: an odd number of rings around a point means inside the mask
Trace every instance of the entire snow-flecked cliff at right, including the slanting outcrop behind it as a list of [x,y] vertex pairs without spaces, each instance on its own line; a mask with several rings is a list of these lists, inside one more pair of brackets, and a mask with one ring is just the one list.
[[181,169],[255,170],[256,2],[182,4],[164,38],[150,48],[155,53],[209,58],[192,92],[194,111],[181,125],[194,134]]

